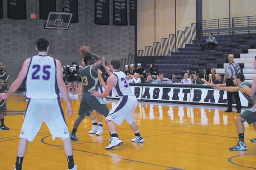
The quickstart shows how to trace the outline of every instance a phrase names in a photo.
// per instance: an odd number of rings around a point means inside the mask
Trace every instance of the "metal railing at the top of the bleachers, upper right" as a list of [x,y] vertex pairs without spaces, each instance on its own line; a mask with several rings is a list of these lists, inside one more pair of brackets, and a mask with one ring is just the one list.
[[202,28],[204,35],[210,32],[218,35],[256,32],[256,15],[203,20]]

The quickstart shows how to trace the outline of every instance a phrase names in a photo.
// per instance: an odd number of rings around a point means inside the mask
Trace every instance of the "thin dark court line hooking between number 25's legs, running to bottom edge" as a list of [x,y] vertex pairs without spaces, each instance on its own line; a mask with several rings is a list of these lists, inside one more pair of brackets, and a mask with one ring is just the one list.
[[[51,136],[51,135],[49,135]],[[41,139],[41,142],[43,144],[47,144],[49,146],[52,146],[52,147],[61,147],[61,146],[58,146],[58,145],[53,145],[53,144],[48,144],[44,141],[45,138],[48,138],[49,136],[45,136],[44,138]],[[165,165],[160,165],[160,164],[152,164],[152,163],[148,163],[148,162],[143,162],[143,161],[136,161],[136,160],[132,160],[132,159],[127,159],[127,158],[121,158],[121,157],[116,157],[116,156],[109,156],[109,155],[105,155],[105,154],[100,154],[100,153],[93,153],[93,152],[89,152],[89,151],[85,151],[85,150],[78,150],[78,149],[73,149],[73,150],[76,150],[76,151],[80,151],[80,152],[84,152],[84,153],[92,153],[92,154],[97,154],[99,156],[106,156],[106,157],[111,157],[111,158],[117,158],[117,159],[121,159],[121,160],[125,160],[125,161],[132,161],[132,162],[137,162],[137,163],[142,163],[142,164],[149,164],[149,165],[154,165],[154,166],[159,166],[159,167],[167,167],[167,168],[171,168],[172,170],[175,170],[175,167],[168,167],[168,166],[165,166]],[[176,170],[178,170],[176,168]]]

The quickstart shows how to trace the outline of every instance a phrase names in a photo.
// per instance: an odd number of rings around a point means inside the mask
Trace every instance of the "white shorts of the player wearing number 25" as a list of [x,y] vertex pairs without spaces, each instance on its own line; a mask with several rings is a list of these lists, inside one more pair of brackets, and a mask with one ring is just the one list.
[[52,139],[69,138],[61,103],[57,98],[30,98],[24,115],[20,138],[33,141],[41,124],[45,122]]

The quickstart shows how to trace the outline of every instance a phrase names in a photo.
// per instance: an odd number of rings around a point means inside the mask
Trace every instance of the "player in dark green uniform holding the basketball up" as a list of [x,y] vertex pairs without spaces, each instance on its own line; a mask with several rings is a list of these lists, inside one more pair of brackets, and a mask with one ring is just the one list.
[[[79,140],[79,138],[76,137],[76,130],[79,127],[79,124],[81,123],[81,121],[84,120],[85,116],[90,116],[93,110],[95,110],[101,115],[105,115],[105,117],[109,113],[109,109],[105,104],[105,101],[102,100],[102,98],[96,98],[90,95],[91,91],[98,90],[97,71],[102,66],[102,58],[94,54],[93,52],[90,52],[90,49],[87,46],[82,46],[79,49],[79,54],[84,56],[84,68],[82,68],[79,72],[82,78],[83,90],[81,94],[82,97],[81,97],[81,102],[80,102],[80,107],[78,112],[79,117],[76,118],[73,130],[70,133],[70,138],[74,141]],[[95,117],[92,117],[92,116],[93,115],[91,115],[91,119],[92,120],[95,119]],[[96,126],[98,129],[98,125],[96,122],[94,122],[94,126]],[[102,135],[102,132],[99,133],[99,135]]]

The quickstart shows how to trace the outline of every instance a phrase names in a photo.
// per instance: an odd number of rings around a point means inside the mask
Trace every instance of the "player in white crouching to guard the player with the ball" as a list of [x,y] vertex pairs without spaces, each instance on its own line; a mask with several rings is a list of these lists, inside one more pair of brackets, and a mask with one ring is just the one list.
[[[104,64],[103,64],[104,65]],[[137,124],[134,122],[134,111],[137,107],[137,98],[131,90],[131,87],[128,84],[127,76],[124,72],[120,71],[121,62],[119,59],[111,60],[109,64],[109,69],[106,69],[108,73],[113,72],[110,77],[107,79],[107,86],[105,92],[99,94],[96,90],[93,90],[91,93],[95,97],[105,98],[112,91],[116,96],[119,96],[120,100],[109,112],[105,121],[108,125],[108,129],[111,133],[110,144],[105,147],[107,150],[112,149],[118,145],[122,144],[122,141],[118,138],[116,133],[116,124],[119,126],[125,120],[130,124],[131,129],[134,131],[135,138],[131,139],[132,142],[143,142],[144,139],[141,137]],[[105,66],[106,67],[106,66]]]

